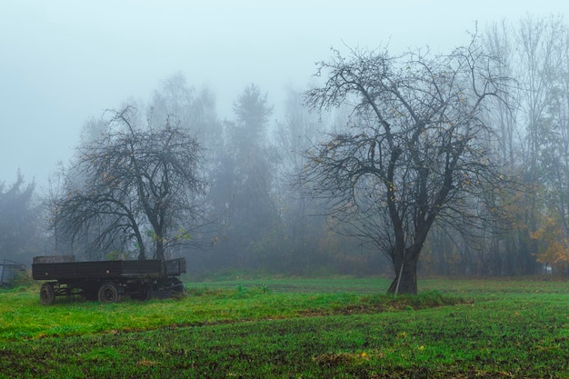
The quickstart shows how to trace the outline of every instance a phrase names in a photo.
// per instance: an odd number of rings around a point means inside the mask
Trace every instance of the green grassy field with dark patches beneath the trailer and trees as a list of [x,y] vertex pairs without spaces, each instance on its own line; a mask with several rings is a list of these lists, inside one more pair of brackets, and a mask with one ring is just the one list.
[[0,290],[0,378],[569,377],[569,284],[186,283],[182,299],[42,306]]

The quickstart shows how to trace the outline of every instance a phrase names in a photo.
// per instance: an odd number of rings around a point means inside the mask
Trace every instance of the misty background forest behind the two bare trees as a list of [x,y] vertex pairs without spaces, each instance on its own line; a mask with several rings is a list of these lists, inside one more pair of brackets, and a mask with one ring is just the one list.
[[[495,135],[488,139],[486,152],[503,162],[508,170],[504,175],[520,186],[501,194],[488,188],[488,195],[507,204],[507,224],[481,222],[468,235],[434,224],[419,274],[567,275],[569,27],[561,17],[528,16],[494,24],[478,36],[479,48],[503,63],[504,72],[494,74],[514,79],[507,104],[495,102],[485,109]],[[294,181],[306,165],[305,152],[326,133],[349,127],[349,110],[310,112],[304,91],[293,90],[284,104],[275,105],[271,94],[251,84],[235,98],[233,116],[220,119],[215,98],[207,86],[189,84],[184,75],[175,74],[147,101],[116,105],[132,109],[138,124],[169,120],[195,135],[202,147],[199,174],[207,190],[200,198],[199,217],[207,222],[180,232],[187,243],[166,250],[169,257],[185,256],[195,275],[392,273],[384,254],[350,237],[330,216],[328,204],[306,196],[306,186]],[[41,254],[136,258],[134,244],[113,245],[115,241],[105,250],[92,248],[95,226],[77,241],[53,224],[53,200],[66,185],[85,180],[75,171],[82,148],[102,139],[110,124],[108,113],[85,121],[77,155],[55,170],[47,193],[36,191],[25,173],[15,183],[0,182],[0,257],[25,264]],[[97,227],[105,227],[105,220],[100,223]],[[143,237],[152,240],[155,235]]]

